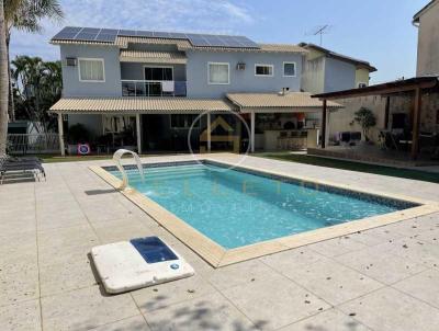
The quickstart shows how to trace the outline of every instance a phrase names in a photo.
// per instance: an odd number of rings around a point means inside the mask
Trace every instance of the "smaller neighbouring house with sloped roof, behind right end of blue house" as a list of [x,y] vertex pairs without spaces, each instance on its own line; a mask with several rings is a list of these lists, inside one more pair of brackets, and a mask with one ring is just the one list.
[[376,68],[368,61],[354,59],[314,44],[301,43],[308,50],[302,76],[302,90],[326,93],[369,85],[369,75]]

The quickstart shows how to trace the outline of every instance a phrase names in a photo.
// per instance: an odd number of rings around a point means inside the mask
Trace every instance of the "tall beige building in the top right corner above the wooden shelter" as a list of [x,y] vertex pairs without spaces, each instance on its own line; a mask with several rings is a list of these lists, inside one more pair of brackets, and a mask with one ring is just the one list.
[[413,18],[418,26],[416,76],[439,75],[439,1],[430,1]]

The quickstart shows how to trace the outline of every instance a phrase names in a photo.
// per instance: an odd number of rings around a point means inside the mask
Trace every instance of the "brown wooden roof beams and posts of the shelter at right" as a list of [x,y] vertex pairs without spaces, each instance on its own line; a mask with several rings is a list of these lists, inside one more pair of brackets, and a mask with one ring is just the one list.
[[[421,95],[424,90],[432,89],[438,85],[439,77],[415,77],[410,79],[397,80],[382,84],[371,85],[361,89],[351,89],[344,91],[336,91],[329,93],[320,93],[312,95],[323,101],[322,114],[322,148],[326,147],[326,126],[327,126],[327,101],[339,100],[347,98],[359,98],[368,95],[386,96],[384,123],[389,125],[390,112],[390,96],[399,93],[414,93],[414,104],[412,107],[412,158],[416,159],[419,152],[419,126],[420,126],[420,111],[421,111]],[[385,127],[387,128],[387,127]]]

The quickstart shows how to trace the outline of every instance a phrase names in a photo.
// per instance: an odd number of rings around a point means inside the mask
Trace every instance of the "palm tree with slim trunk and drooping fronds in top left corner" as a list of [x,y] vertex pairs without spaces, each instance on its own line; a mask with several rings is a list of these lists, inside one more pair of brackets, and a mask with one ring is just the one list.
[[60,20],[63,10],[57,0],[3,0],[4,1],[4,27],[5,43],[8,54],[8,72],[9,72],[9,114],[14,119],[13,109],[13,89],[10,77],[9,66],[9,45],[11,42],[11,32],[13,28],[26,31],[30,33],[41,32],[42,19]]

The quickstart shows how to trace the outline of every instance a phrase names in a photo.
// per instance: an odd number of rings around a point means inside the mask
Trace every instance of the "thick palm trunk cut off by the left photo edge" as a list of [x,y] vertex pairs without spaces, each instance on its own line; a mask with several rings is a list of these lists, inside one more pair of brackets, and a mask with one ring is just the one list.
[[7,151],[8,139],[8,56],[3,0],[0,0],[0,156]]

